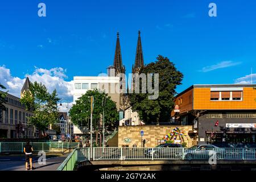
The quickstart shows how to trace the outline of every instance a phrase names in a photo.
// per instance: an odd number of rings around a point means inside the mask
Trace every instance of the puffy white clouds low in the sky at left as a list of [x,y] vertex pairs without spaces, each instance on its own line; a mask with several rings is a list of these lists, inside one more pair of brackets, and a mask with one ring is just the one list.
[[19,78],[12,76],[10,69],[3,65],[0,66],[0,82],[9,90],[10,94],[20,97],[20,90],[28,76],[31,82],[37,81],[46,85],[49,92],[56,89],[59,98],[72,101],[73,81],[64,80],[64,78],[67,78],[66,72],[63,68],[43,69],[35,67],[35,71],[31,75],[25,75],[23,78]]

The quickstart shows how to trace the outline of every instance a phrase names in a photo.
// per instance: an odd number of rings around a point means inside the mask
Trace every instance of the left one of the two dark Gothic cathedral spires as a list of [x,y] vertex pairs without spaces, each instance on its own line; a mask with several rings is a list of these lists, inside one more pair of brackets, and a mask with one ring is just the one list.
[[117,43],[115,45],[115,57],[114,57],[114,69],[115,75],[118,73],[125,73],[125,67],[122,64],[121,46],[119,42],[119,32],[117,32]]

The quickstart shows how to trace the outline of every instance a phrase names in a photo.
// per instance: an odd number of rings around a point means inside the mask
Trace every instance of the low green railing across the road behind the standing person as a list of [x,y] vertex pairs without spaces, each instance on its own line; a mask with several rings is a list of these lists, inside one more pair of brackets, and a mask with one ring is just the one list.
[[[77,148],[77,142],[31,142],[34,151],[64,151],[64,149]],[[0,142],[0,153],[23,152],[26,142]]]

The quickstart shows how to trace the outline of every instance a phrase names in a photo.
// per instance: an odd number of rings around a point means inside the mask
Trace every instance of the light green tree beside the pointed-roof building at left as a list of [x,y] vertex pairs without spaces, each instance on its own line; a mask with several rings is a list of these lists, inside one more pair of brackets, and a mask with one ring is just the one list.
[[49,93],[46,86],[42,83],[31,83],[30,88],[23,94],[20,100],[25,104],[27,110],[32,110],[33,115],[28,118],[28,122],[38,128],[39,131],[45,130],[50,124],[56,123],[59,119],[56,90]]

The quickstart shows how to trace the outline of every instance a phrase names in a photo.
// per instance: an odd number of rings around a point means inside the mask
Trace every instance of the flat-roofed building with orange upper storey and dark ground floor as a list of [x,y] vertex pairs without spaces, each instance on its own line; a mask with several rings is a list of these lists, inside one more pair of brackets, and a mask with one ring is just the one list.
[[180,125],[193,125],[199,144],[256,144],[255,88],[256,84],[192,85],[177,94],[171,115]]

